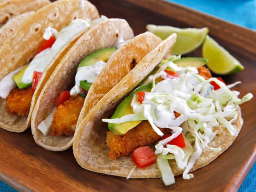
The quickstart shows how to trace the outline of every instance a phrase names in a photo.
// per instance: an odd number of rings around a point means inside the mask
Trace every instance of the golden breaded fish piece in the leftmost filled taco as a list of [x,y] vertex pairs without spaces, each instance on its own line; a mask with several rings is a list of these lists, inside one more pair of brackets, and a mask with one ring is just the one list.
[[6,98],[7,113],[13,116],[28,116],[33,94],[31,87],[13,89]]

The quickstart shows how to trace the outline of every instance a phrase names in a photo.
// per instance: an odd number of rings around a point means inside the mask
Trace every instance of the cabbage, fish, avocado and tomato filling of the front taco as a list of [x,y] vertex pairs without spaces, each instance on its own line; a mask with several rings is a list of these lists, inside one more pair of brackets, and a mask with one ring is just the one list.
[[237,134],[232,126],[237,106],[253,97],[248,93],[239,99],[239,92],[230,88],[240,82],[226,85],[220,77],[212,77],[203,66],[206,62],[177,56],[163,60],[119,104],[111,119],[102,119],[110,130],[106,138],[109,158],[132,154],[138,168],[156,162],[166,185],[174,183],[169,160],[183,170],[183,179],[193,178],[188,173],[202,150],[221,150],[208,144],[222,129]]

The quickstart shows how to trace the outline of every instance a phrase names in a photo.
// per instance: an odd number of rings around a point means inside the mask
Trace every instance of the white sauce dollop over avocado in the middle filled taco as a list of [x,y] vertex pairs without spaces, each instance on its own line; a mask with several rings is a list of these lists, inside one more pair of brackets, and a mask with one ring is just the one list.
[[70,95],[81,92],[80,81],[86,80],[88,83],[94,83],[105,65],[106,63],[104,61],[98,61],[90,66],[79,67],[75,75],[75,86],[71,89]]

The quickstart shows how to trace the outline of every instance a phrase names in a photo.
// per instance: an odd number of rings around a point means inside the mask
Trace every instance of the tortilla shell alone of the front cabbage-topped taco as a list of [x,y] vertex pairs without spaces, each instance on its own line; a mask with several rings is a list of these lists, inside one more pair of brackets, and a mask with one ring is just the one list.
[[[76,161],[83,168],[109,175],[128,176],[131,169],[134,167],[131,156],[119,157],[115,160],[108,157],[109,149],[105,141],[107,131],[109,130],[107,124],[102,122],[102,119],[110,118],[120,101],[159,64],[166,53],[166,49],[174,45],[174,39],[174,36],[167,38],[146,55],[134,70],[110,90],[83,119],[80,126],[75,131],[73,144],[73,152]],[[126,86],[124,86],[124,84]],[[237,110],[238,118],[233,126],[239,133],[243,125],[243,119],[241,118],[240,108],[238,107]],[[232,144],[236,137],[237,135],[232,136],[226,128],[223,129],[222,132],[219,132],[208,146],[219,147],[221,145],[222,150],[220,152],[213,152],[205,148],[201,157],[196,160],[191,171],[203,167],[216,159]],[[169,162],[174,175],[183,173],[184,170],[179,169],[175,160]],[[149,177],[161,177],[156,163],[145,168],[136,168],[131,175],[131,178]]]

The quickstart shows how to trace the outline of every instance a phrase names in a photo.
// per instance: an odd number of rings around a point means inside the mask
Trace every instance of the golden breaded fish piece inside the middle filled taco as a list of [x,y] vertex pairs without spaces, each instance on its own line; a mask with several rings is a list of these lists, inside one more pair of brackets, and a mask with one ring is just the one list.
[[51,135],[74,135],[76,122],[83,104],[84,98],[79,96],[75,99],[71,97],[66,102],[58,106],[58,109],[53,116]]

